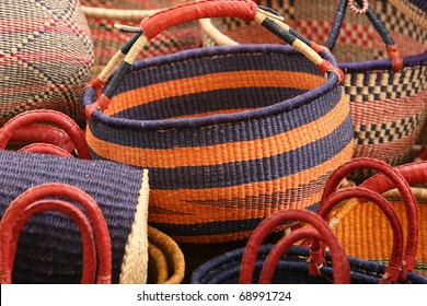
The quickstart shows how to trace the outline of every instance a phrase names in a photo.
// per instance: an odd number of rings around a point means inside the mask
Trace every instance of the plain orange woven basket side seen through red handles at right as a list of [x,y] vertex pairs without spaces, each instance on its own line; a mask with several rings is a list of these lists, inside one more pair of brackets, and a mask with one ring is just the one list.
[[[418,203],[418,248],[414,272],[427,276],[427,189],[413,188]],[[384,196],[395,209],[407,235],[405,205],[396,190]],[[392,231],[383,213],[373,203],[348,201],[332,219],[334,232],[348,255],[378,262],[386,262],[392,249]]]

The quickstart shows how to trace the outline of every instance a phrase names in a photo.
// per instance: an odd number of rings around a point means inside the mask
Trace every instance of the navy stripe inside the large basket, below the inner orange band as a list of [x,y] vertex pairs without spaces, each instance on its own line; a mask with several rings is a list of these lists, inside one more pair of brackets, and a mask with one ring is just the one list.
[[304,92],[307,90],[289,87],[218,90],[159,99],[128,108],[114,115],[114,117],[158,120],[223,109],[265,107],[277,101],[285,101]]

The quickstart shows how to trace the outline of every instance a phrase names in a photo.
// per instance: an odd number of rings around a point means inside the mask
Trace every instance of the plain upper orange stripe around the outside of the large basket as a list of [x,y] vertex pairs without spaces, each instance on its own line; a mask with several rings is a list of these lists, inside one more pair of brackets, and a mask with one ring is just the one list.
[[293,130],[269,138],[229,142],[209,146],[140,149],[96,139],[88,129],[86,140],[92,150],[107,160],[132,166],[170,168],[210,166],[275,156],[322,139],[347,118],[349,106],[343,95],[335,108],[322,118]]

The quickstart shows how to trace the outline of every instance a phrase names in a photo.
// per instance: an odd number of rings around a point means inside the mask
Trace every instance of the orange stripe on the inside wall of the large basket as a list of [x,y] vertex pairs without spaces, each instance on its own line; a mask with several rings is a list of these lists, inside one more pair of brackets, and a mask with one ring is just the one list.
[[246,87],[292,87],[312,90],[325,82],[325,79],[303,72],[246,70],[211,73],[127,91],[114,96],[105,111],[113,116],[128,108],[174,96],[197,94],[216,90]]

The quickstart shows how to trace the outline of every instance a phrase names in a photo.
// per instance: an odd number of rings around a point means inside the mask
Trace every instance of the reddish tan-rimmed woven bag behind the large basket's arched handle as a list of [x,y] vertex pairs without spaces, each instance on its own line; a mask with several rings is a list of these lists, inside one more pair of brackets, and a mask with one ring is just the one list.
[[[186,2],[185,0],[81,0],[95,51],[94,75],[108,63],[114,54],[129,39],[129,34],[114,27],[115,23],[138,25],[159,9]],[[176,25],[147,44],[140,52],[143,58],[166,55],[201,46],[198,22]]]

